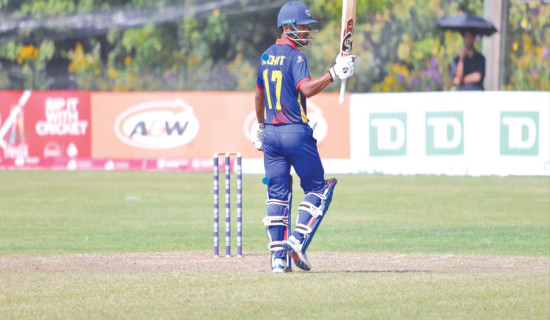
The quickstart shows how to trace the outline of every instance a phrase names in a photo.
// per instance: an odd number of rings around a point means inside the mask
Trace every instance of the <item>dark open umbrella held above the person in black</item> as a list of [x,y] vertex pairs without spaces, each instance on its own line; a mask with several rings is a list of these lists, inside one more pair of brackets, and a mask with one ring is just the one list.
[[497,28],[490,21],[476,17],[469,12],[440,18],[435,25],[443,30],[472,31],[483,36],[490,36],[497,32]]

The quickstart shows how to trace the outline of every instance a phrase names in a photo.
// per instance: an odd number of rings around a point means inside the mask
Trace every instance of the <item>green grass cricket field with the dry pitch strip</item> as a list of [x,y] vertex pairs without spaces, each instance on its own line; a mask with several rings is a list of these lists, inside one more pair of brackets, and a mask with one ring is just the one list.
[[261,178],[244,176],[245,257],[215,259],[211,174],[0,171],[0,318],[550,317],[548,177],[338,175],[312,272],[285,275]]

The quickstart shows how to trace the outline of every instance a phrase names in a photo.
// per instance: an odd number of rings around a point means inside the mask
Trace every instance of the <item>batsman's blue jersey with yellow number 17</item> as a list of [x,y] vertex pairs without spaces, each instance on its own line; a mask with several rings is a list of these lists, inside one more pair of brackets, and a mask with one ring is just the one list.
[[306,56],[288,39],[277,39],[263,54],[256,88],[265,91],[265,123],[307,123],[306,97],[298,90],[310,80]]

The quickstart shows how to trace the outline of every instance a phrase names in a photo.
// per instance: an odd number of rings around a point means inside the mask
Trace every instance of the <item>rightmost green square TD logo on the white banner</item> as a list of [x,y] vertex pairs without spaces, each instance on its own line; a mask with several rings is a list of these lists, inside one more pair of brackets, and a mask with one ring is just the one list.
[[538,111],[502,111],[500,113],[500,154],[538,156]]

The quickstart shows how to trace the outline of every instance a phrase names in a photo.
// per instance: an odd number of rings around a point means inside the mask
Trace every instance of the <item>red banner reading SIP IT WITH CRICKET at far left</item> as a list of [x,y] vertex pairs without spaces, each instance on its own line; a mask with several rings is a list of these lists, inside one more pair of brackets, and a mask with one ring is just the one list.
[[90,92],[1,91],[0,164],[91,157]]

